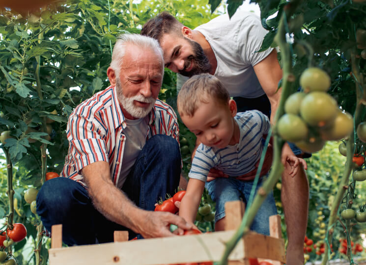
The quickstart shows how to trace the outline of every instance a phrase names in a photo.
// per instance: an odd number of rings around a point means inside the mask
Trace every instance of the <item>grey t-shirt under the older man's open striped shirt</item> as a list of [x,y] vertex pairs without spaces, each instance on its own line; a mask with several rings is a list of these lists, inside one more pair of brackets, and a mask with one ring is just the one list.
[[126,143],[117,184],[117,187],[119,188],[124,184],[142,147],[145,145],[148,123],[149,118],[147,116],[136,120],[126,119],[126,128],[123,130],[123,133],[126,136]]

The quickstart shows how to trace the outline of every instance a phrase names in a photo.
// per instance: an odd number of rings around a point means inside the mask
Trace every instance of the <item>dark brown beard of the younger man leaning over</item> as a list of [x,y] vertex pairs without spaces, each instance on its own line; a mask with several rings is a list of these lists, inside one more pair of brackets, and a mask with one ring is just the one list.
[[[211,71],[211,64],[206,54],[204,54],[202,47],[191,39],[187,38],[187,40],[190,43],[195,55],[188,56],[187,60],[184,61],[184,69],[179,70],[179,74],[186,77],[192,77],[202,73],[209,73]],[[190,66],[191,63],[194,63],[195,65],[191,71],[186,72],[185,70]]]

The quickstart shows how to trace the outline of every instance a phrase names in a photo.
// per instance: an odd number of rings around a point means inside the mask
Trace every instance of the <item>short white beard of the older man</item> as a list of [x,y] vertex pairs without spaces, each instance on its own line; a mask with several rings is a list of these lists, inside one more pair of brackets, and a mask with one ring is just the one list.
[[[130,114],[134,118],[140,119],[140,118],[146,117],[155,104],[156,100],[154,98],[145,98],[141,94],[137,95],[137,96],[129,97],[129,98],[125,97],[122,92],[123,89],[122,89],[119,78],[116,78],[116,80],[115,80],[115,89],[117,92],[117,98],[118,98],[119,104],[124,108],[124,110],[127,111],[128,114]],[[150,103],[150,105],[147,107],[136,106],[134,104],[135,100],[140,101],[140,102]]]

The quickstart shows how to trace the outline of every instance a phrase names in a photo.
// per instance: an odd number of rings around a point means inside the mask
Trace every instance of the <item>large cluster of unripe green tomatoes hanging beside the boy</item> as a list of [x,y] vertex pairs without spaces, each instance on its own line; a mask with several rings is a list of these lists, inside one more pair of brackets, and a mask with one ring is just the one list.
[[340,140],[353,132],[353,119],[342,112],[326,91],[331,79],[323,70],[310,67],[300,77],[304,92],[292,94],[285,102],[285,114],[277,132],[308,153],[321,150],[327,140]]

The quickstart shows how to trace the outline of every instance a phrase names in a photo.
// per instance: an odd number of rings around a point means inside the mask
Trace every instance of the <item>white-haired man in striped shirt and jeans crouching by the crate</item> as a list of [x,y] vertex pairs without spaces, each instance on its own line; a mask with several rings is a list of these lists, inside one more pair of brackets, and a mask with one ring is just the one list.
[[37,214],[50,231],[62,224],[68,245],[129,237],[172,236],[169,224],[191,229],[169,212],[152,212],[159,197],[179,185],[177,118],[157,99],[164,75],[158,42],[124,34],[107,70],[111,86],[77,106],[69,117],[69,151],[60,178],[37,195]]

